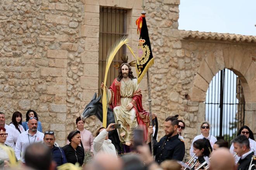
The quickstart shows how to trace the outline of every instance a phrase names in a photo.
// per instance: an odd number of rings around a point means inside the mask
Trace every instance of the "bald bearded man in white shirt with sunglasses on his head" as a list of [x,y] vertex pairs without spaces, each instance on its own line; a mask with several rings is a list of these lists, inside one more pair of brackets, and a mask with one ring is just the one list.
[[44,134],[37,131],[37,119],[36,117],[30,117],[28,120],[28,130],[21,133],[15,146],[15,155],[17,160],[21,160],[25,163],[24,154],[26,148],[37,142],[43,141]]

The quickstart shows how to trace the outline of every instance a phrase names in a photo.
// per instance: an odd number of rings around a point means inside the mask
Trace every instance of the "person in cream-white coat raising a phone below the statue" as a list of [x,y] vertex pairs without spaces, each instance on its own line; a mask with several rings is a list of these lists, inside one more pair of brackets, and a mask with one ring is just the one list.
[[116,148],[109,139],[108,132],[114,130],[114,123],[109,124],[107,129],[100,127],[95,132],[95,139],[93,140],[93,151],[94,155],[99,152],[114,155],[117,158]]

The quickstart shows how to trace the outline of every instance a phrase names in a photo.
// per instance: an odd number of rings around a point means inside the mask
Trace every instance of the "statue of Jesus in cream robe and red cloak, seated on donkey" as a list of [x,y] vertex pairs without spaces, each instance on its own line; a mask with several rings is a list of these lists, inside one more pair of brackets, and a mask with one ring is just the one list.
[[[118,67],[119,75],[107,90],[107,102],[113,109],[115,121],[121,124],[117,129],[122,144],[131,145],[133,130],[139,125],[144,129],[144,139],[147,139],[147,128],[149,126],[149,112],[142,107],[142,94],[137,83],[137,78],[133,76],[131,66],[135,66],[132,61],[128,63],[128,57],[122,58],[123,63]],[[104,83],[100,88],[107,88]],[[156,117],[152,114],[152,119]]]

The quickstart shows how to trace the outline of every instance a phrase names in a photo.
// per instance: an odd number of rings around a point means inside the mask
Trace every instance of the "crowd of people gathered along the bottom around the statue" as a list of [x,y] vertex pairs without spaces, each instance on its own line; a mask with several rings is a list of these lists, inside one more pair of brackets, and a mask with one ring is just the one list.
[[[22,122],[20,112],[14,112],[9,125],[6,124],[5,114],[0,112],[0,169],[12,168],[10,155],[2,146],[15,153],[16,160],[23,169],[51,170],[66,163],[78,164],[86,170],[181,170],[186,167],[181,163],[185,155],[182,136],[185,122],[179,120],[177,115],[165,119],[165,135],[159,142],[151,138],[154,131],[153,127],[149,126],[147,141],[133,147],[131,153],[123,155],[118,155],[115,146],[108,138],[109,131],[114,130],[113,123],[107,128],[96,129],[94,136],[84,128],[84,123],[78,117],[77,129],[68,134],[67,145],[60,147],[55,142],[54,131],[43,132],[42,124],[34,110],[28,110],[25,122]],[[254,156],[256,142],[248,126],[239,129],[230,150],[227,141],[217,140],[210,135],[210,128],[208,122],[202,122],[201,134],[195,136],[191,144],[192,158],[189,162],[185,162],[189,168],[248,170],[250,165],[256,163]],[[153,145],[154,157],[150,151],[151,145]],[[88,163],[84,163],[86,152],[93,153],[93,159]],[[210,161],[209,159],[207,161],[207,158],[210,158]],[[255,167],[251,168],[254,169]]]

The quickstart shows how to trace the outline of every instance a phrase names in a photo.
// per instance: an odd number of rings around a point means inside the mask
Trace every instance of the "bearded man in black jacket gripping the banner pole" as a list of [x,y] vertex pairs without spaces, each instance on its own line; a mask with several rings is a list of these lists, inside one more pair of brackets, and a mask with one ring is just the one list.
[[[182,161],[185,155],[184,141],[179,139],[177,134],[178,119],[174,116],[169,116],[164,121],[165,136],[160,139],[158,143],[154,143],[154,155],[156,155],[156,162],[161,163],[164,160],[178,160]],[[150,142],[150,135],[153,133],[152,126],[148,128],[148,140]]]

